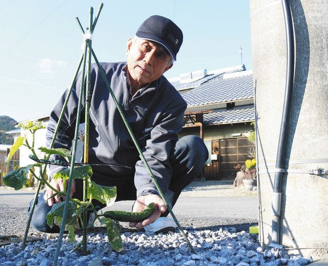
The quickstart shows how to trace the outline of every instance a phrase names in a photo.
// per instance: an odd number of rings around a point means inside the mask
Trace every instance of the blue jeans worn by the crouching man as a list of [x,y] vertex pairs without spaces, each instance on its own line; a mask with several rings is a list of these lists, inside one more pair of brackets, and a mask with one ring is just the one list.
[[[182,189],[187,187],[195,178],[197,178],[207,160],[209,154],[204,142],[197,136],[185,136],[180,138],[174,147],[170,156],[170,163],[172,167],[172,178],[170,181],[169,189],[165,192],[165,197],[168,203],[173,207],[176,203]],[[134,186],[134,177],[128,178],[123,185],[117,186],[115,180],[108,178],[107,186],[117,187],[116,201],[120,200],[135,200],[136,188]],[[94,179],[93,179],[94,180]],[[73,198],[83,199],[83,182],[76,179],[76,191]],[[95,180],[95,182],[97,182]],[[32,207],[33,200],[30,201],[30,208]],[[92,201],[94,206],[104,208],[105,204],[99,201]],[[30,211],[30,208],[28,212]],[[35,205],[31,226],[38,231],[55,233],[59,232],[59,228],[54,225],[50,228],[47,224],[46,215],[52,207],[44,200],[44,193],[40,194],[37,198]],[[169,211],[166,211],[161,216],[168,216]]]

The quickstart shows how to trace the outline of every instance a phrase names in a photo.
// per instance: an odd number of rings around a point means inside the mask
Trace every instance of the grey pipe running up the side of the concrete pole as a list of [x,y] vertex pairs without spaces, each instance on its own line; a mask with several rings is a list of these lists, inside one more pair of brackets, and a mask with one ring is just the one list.
[[280,212],[281,212],[281,182],[282,176],[285,173],[286,165],[284,163],[285,147],[288,133],[288,125],[291,113],[293,84],[294,84],[294,71],[295,71],[295,51],[294,51],[294,32],[292,12],[289,0],[281,0],[283,16],[285,22],[286,32],[286,48],[287,48],[287,63],[286,63],[286,84],[285,95],[282,109],[282,118],[280,125],[280,134],[276,158],[276,172],[273,186],[273,199],[272,199],[272,234],[270,247],[282,247],[280,242]]

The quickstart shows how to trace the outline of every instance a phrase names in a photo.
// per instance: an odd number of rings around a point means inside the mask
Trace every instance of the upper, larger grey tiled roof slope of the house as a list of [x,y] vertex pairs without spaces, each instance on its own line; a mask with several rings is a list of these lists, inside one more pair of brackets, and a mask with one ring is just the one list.
[[[242,71],[243,72],[243,71]],[[236,74],[241,74],[238,72]],[[253,75],[244,71],[245,75],[224,78],[223,74],[216,75],[195,89],[183,94],[188,107],[221,103],[240,99],[253,98]]]

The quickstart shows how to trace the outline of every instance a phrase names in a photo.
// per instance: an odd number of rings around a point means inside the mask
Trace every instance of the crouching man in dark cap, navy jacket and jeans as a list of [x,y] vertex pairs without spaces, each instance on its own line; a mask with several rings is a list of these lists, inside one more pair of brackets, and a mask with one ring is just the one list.
[[[128,40],[127,63],[101,63],[139,146],[172,207],[181,190],[199,176],[208,157],[207,149],[200,138],[186,136],[178,140],[177,134],[183,126],[187,104],[162,76],[173,66],[182,37],[181,30],[170,19],[151,16],[142,23],[136,36]],[[80,79],[79,76],[70,96],[54,148],[71,147]],[[67,91],[50,115],[48,143],[53,136],[66,95]],[[166,205],[140,160],[96,65],[92,65],[91,95],[89,162],[117,165],[93,167],[92,180],[99,185],[116,186],[117,201],[135,200],[133,211],[142,211],[149,203],[155,203],[155,212],[142,222],[131,222],[131,227],[145,227],[146,230],[155,232],[173,230],[172,219],[166,217]],[[84,94],[83,103],[85,97]],[[80,122],[84,122],[84,108],[81,116]],[[61,168],[51,166],[51,174]],[[64,191],[61,180],[52,180],[51,185]],[[72,184],[71,196],[81,199],[82,191],[82,182],[77,179]],[[53,204],[61,201],[59,195],[52,197],[53,194],[48,188],[38,198],[31,224],[39,231],[58,231],[57,227],[49,228],[45,219]],[[100,202],[97,205],[104,207]]]

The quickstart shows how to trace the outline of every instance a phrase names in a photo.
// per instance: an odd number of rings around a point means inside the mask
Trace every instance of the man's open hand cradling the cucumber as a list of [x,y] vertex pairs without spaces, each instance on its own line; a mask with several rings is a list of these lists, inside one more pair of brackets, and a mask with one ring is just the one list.
[[155,203],[155,210],[153,214],[142,222],[130,222],[129,224],[130,227],[141,229],[142,227],[148,226],[148,224],[151,224],[154,221],[156,221],[161,213],[166,211],[166,206],[164,201],[155,194],[149,194],[149,195],[138,197],[134,202],[132,211],[141,212],[145,210],[151,202]]

